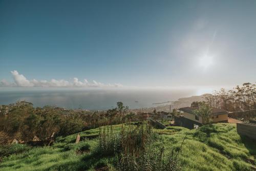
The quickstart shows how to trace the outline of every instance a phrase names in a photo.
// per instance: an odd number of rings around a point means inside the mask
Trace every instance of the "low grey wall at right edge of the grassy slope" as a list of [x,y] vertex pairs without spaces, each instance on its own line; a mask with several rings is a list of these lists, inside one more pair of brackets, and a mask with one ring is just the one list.
[[254,123],[237,123],[237,132],[239,135],[256,140],[256,124]]

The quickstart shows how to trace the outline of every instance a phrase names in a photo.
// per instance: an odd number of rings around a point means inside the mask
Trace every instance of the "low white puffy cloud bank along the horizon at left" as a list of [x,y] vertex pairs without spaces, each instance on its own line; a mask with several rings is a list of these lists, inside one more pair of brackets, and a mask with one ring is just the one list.
[[79,81],[78,78],[73,78],[73,81],[67,81],[64,79],[56,80],[28,80],[24,75],[19,74],[16,70],[11,71],[14,82],[8,82],[3,79],[0,81],[0,87],[122,87],[120,83],[104,84],[93,80],[89,82],[87,79]]

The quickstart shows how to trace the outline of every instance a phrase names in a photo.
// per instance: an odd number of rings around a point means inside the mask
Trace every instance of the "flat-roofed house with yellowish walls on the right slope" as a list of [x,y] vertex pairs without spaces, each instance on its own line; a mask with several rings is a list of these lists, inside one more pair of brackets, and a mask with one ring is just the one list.
[[[206,124],[202,116],[195,114],[195,110],[198,109],[199,107],[185,107],[178,109],[180,117],[176,117],[176,123],[180,126],[187,127],[188,129],[196,129],[199,126]],[[210,121],[212,123],[228,122],[227,111],[213,108],[210,114]]]

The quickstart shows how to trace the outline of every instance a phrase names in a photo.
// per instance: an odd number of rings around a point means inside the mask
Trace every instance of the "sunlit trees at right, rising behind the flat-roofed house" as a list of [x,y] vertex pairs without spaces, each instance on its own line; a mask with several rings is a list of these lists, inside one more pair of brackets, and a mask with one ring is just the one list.
[[207,111],[209,114],[210,108],[219,108],[232,112],[228,115],[234,119],[244,121],[256,119],[256,84],[248,82],[237,86],[234,90],[226,92],[225,89],[221,89],[213,94],[204,94],[203,97],[204,101],[191,103],[191,107],[200,107],[201,111],[197,110],[197,114],[207,113]]

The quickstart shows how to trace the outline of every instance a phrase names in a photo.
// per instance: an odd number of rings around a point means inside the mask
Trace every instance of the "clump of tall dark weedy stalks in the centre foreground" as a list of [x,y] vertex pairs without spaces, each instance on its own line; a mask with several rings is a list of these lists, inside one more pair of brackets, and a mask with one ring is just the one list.
[[97,152],[116,156],[117,170],[179,170],[179,152],[165,152],[157,136],[146,122],[122,124],[119,133],[113,132],[112,126],[102,126]]

